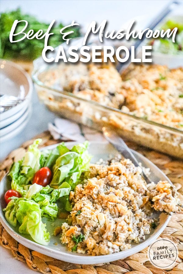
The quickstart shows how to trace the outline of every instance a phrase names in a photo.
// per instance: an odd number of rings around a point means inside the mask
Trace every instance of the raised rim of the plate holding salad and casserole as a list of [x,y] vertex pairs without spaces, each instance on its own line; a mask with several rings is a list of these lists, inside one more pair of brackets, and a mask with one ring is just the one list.
[[[74,145],[78,142],[66,142],[66,145],[70,146],[70,145]],[[91,141],[90,143],[94,143],[94,144],[104,144],[104,142],[98,142],[98,141]],[[108,142],[105,142],[106,144],[109,144]],[[50,146],[45,146],[43,148],[41,148],[40,150],[44,150],[44,149],[53,149],[54,147],[58,146],[59,143],[57,144],[53,144]],[[147,161],[148,163],[150,163],[151,165],[153,165],[154,167],[156,167],[156,169],[158,169],[160,171],[160,173],[167,179],[168,182],[171,183],[170,179],[163,173],[162,170],[160,170],[155,164],[153,164],[149,159],[147,159],[145,156],[143,156],[141,153],[136,152],[135,150],[131,149],[131,151],[135,154],[137,154],[138,156],[142,157],[143,160]],[[5,174],[5,176],[2,178],[1,181],[3,181],[5,179],[5,177],[7,176],[7,173]],[[172,183],[171,183],[172,184]],[[173,184],[172,184],[173,185]],[[2,188],[2,183],[0,183],[0,188]],[[161,213],[164,214],[165,213]],[[164,216],[163,215],[163,216]],[[165,216],[164,216],[165,217]],[[38,251],[42,254],[45,254],[49,257],[53,257],[56,258],[58,260],[62,260],[65,262],[70,262],[70,263],[80,263],[80,264],[99,264],[99,263],[106,263],[106,262],[112,262],[112,261],[116,261],[116,260],[120,260],[120,259],[124,259],[128,256],[131,256],[132,254],[135,254],[141,250],[143,250],[144,248],[148,247],[150,244],[152,244],[152,242],[154,240],[157,239],[157,237],[160,236],[160,234],[163,232],[163,230],[165,229],[165,227],[167,226],[168,222],[170,221],[171,216],[167,215],[167,218],[165,220],[165,222],[163,223],[163,225],[158,229],[158,231],[156,231],[155,233],[153,233],[148,239],[146,239],[145,241],[143,241],[140,244],[137,244],[135,247],[129,248],[127,250],[124,251],[119,251],[116,253],[112,253],[112,254],[108,254],[108,255],[99,255],[99,256],[87,256],[87,255],[79,255],[77,253],[75,253],[73,255],[72,252],[70,253],[66,253],[64,251],[57,251],[57,250],[50,250],[49,249],[49,245],[41,245],[38,244],[36,242],[33,242],[29,239],[26,239],[25,237],[17,234],[13,228],[11,228],[8,224],[8,222],[5,219],[4,213],[2,211],[2,208],[0,208],[0,221],[3,225],[3,227],[5,227],[5,230],[16,240],[18,241],[20,244],[23,244],[24,246],[26,246],[27,248],[33,249],[35,251]],[[131,252],[132,251],[132,252]],[[77,254],[77,255],[76,255]],[[112,257],[112,258],[111,258]],[[111,258],[111,259],[110,259]]]

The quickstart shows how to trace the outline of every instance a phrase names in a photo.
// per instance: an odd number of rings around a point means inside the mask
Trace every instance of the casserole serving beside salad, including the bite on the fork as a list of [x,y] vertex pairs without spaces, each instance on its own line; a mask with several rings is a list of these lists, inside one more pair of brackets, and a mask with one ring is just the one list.
[[174,187],[167,181],[147,185],[141,172],[129,159],[91,164],[87,179],[70,192],[73,209],[61,232],[69,251],[94,256],[126,250],[150,233],[154,210],[178,210]]

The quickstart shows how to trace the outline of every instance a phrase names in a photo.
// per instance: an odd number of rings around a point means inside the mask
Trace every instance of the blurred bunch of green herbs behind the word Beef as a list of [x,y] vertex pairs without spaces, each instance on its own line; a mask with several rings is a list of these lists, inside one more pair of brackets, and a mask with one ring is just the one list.
[[[34,16],[24,14],[21,9],[16,9],[11,12],[3,12],[1,13],[0,17],[0,32],[1,32],[1,38],[0,38],[0,47],[1,47],[1,53],[0,58],[22,58],[27,60],[34,60],[35,58],[39,57],[42,53],[42,50],[44,48],[45,40],[43,39],[23,39],[21,43],[11,43],[9,41],[9,33],[11,30],[11,27],[13,26],[13,22],[15,20],[27,20],[28,26],[25,30],[25,33],[28,33],[29,30],[34,30],[34,33],[36,33],[38,30],[43,30],[43,33],[45,33],[48,29],[49,24],[43,23],[38,21],[37,18]],[[16,33],[18,33],[22,28],[25,26],[24,22],[18,23],[16,27]],[[60,34],[60,29],[63,28],[63,24],[54,24],[52,27],[51,32],[54,33],[50,35],[48,39],[48,45],[52,47],[57,47],[60,44],[64,42],[62,35]],[[79,37],[80,29],[79,27],[70,27],[66,31],[73,30],[74,32],[69,35],[69,38],[73,37]],[[16,40],[20,39],[22,37],[22,34],[18,34],[16,36]]]

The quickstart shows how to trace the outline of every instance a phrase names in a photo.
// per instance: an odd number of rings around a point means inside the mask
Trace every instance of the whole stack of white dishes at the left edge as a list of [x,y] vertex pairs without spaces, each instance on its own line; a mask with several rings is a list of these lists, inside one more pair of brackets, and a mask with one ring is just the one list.
[[6,100],[9,96],[21,98],[11,107],[0,107],[0,142],[4,142],[20,133],[29,121],[33,84],[20,66],[5,60],[0,61],[0,84],[1,106],[5,96]]

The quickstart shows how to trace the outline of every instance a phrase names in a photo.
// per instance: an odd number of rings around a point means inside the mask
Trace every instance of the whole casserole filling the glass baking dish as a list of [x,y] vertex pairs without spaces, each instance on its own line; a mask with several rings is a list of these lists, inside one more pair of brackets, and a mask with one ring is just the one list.
[[111,64],[61,64],[38,78],[59,90],[37,85],[61,116],[98,129],[112,125],[140,145],[183,158],[183,68],[131,64],[120,76]]

